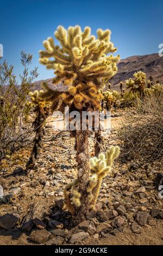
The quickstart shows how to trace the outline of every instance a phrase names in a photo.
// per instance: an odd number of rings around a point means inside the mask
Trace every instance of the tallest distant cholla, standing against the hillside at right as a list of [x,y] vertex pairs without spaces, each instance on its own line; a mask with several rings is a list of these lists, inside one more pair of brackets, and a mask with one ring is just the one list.
[[139,71],[135,72],[133,76],[134,79],[129,78],[129,80],[126,80],[126,87],[130,89],[131,93],[138,93],[140,96],[143,96],[143,91],[146,86],[146,74]]

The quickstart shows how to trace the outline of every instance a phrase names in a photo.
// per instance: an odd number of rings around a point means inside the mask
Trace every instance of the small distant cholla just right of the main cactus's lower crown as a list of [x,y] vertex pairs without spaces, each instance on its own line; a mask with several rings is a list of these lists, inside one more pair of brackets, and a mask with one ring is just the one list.
[[116,90],[106,90],[106,92],[103,93],[103,96],[104,102],[106,102],[106,107],[111,109],[118,105],[121,95]]

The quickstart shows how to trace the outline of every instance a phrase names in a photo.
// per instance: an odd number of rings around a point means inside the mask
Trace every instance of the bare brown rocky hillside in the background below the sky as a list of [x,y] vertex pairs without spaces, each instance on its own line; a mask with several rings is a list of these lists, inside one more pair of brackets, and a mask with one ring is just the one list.
[[[143,56],[131,56],[126,59],[122,59],[118,64],[117,75],[110,80],[113,87],[118,89],[118,84],[121,81],[126,81],[132,77],[137,71],[143,71],[149,76],[153,77],[154,82],[159,80],[163,83],[163,57],[159,57],[158,53],[143,55]],[[52,83],[52,78],[46,80],[48,83]],[[40,89],[43,80],[36,81],[34,89]],[[61,89],[61,84],[59,89]]]

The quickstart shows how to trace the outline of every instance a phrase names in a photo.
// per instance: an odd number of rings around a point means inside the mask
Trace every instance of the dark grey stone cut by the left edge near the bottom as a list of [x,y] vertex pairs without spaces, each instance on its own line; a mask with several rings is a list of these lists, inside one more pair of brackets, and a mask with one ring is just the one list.
[[16,223],[18,222],[18,217],[12,214],[5,214],[0,217],[0,227],[4,229],[14,228]]

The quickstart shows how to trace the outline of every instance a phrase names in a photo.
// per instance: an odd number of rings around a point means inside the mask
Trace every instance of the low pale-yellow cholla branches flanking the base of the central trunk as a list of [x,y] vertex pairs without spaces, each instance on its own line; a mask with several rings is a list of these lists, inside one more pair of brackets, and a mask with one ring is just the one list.
[[[98,199],[99,190],[103,178],[106,175],[111,174],[111,167],[114,160],[120,154],[120,148],[118,146],[111,147],[106,154],[99,154],[98,157],[92,157],[90,159],[90,178],[87,182],[87,197],[89,199],[89,210],[96,209],[96,202]],[[74,179],[70,184],[65,187],[65,206],[74,214],[74,207],[79,208],[82,204],[82,194],[77,189],[78,179]]]

